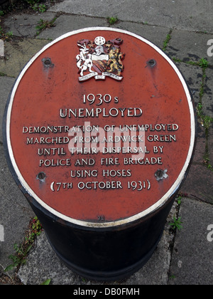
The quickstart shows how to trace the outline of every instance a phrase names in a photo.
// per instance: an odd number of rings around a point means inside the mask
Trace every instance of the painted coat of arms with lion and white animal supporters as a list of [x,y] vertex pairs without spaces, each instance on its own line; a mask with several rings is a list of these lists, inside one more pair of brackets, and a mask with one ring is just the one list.
[[82,39],[77,42],[80,54],[76,56],[79,68],[79,80],[85,81],[94,77],[96,80],[104,80],[106,77],[122,80],[121,73],[124,70],[121,53],[121,38],[106,41],[104,37],[97,36],[94,41]]

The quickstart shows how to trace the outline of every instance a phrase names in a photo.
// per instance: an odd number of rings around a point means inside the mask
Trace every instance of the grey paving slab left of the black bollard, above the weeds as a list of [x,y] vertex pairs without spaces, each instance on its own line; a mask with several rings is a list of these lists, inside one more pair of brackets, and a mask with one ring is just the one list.
[[0,224],[4,226],[4,242],[0,242],[1,273],[11,264],[13,245],[23,243],[29,221],[35,216],[9,172],[3,145],[0,145],[0,182]]

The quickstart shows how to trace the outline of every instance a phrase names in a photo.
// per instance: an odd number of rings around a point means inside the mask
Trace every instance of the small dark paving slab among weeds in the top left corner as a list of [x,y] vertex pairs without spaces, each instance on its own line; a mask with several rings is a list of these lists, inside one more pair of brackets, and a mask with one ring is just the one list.
[[55,13],[49,11],[43,14],[12,14],[4,21],[4,29],[6,32],[11,31],[13,36],[33,38],[38,29],[40,19],[51,21],[55,17]]

